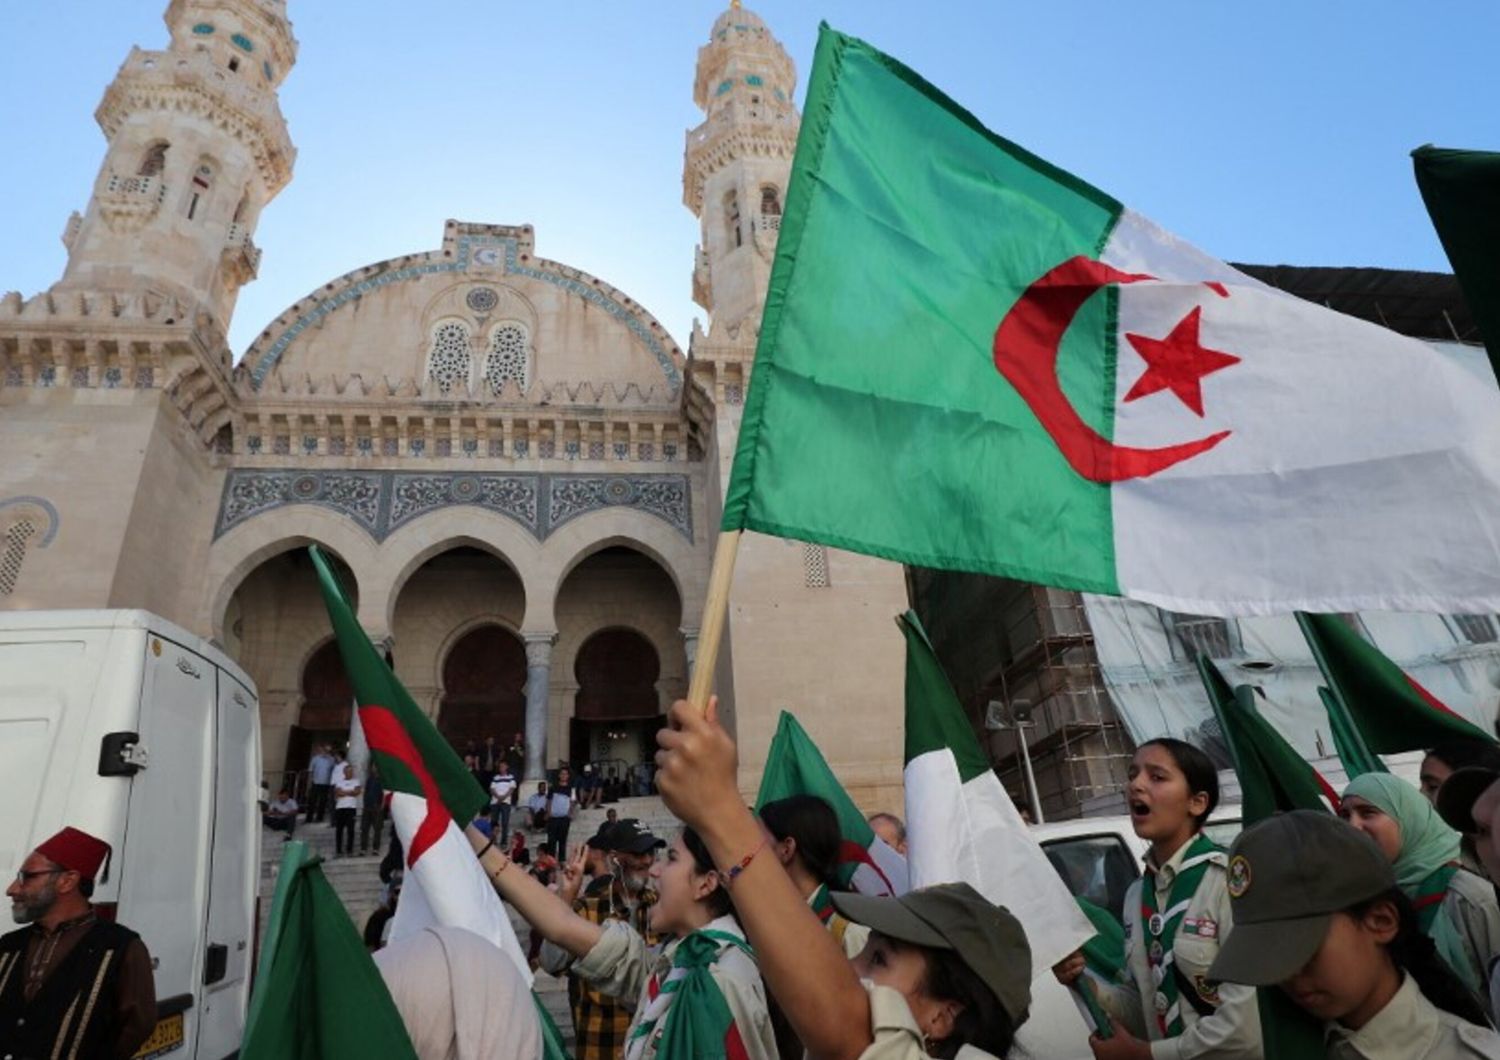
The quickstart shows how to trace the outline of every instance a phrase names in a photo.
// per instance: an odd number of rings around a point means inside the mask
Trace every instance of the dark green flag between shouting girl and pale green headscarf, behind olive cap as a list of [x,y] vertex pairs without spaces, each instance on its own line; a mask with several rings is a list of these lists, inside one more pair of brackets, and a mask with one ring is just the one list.
[[[1230,691],[1224,675],[1208,657],[1198,655],[1198,675],[1209,703],[1234,756],[1245,828],[1287,810],[1323,810],[1323,796],[1334,798],[1328,783],[1256,711],[1250,685]],[[1334,799],[1336,804],[1336,799]],[[1318,1060],[1323,1057],[1323,1024],[1299,1009],[1280,987],[1256,990],[1260,1036],[1268,1057]]]

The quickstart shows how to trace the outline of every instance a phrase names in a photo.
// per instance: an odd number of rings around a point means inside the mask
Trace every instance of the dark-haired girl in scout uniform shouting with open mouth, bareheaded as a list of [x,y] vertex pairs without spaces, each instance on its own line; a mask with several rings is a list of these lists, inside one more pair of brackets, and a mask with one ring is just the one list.
[[[1100,1002],[1118,1023],[1112,1038],[1090,1039],[1095,1057],[1258,1060],[1256,993],[1208,981],[1233,930],[1228,859],[1203,835],[1218,804],[1218,771],[1191,744],[1154,739],[1131,760],[1125,801],[1150,853],[1144,876],[1125,894],[1130,982],[1100,987]],[[1083,973],[1083,954],[1054,972],[1072,985]]]

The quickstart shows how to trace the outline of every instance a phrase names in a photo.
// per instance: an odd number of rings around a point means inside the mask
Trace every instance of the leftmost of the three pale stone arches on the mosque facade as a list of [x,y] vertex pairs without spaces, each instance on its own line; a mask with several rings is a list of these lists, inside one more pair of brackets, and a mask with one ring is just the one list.
[[267,559],[309,544],[327,547],[350,570],[354,577],[350,588],[360,604],[360,622],[370,628],[364,582],[366,573],[376,570],[375,543],[346,517],[312,505],[280,508],[274,519],[250,519],[213,543],[200,625],[212,630],[219,643],[225,643],[224,616],[236,589]]

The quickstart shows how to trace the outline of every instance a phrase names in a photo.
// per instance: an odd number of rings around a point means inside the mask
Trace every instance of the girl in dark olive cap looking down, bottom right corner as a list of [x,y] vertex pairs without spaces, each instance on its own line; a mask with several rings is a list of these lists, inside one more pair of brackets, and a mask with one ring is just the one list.
[[1212,981],[1280,987],[1326,1023],[1329,1060],[1500,1057],[1368,835],[1294,810],[1246,829],[1228,864],[1234,934]]

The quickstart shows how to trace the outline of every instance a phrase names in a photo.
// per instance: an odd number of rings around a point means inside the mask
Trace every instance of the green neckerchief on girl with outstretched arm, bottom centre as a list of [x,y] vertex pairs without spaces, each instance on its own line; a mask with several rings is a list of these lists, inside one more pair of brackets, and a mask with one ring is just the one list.
[[[754,960],[754,951],[740,936],[702,928],[678,943],[672,954],[672,969],[666,978],[660,972],[646,982],[645,1012],[626,1041],[626,1060],[640,1060],[646,1044],[660,1032],[656,1054],[662,1060],[724,1056],[730,1039],[742,1042],[734,1014],[723,991],[710,975],[710,966],[730,946],[742,949]],[[682,1002],[681,1006],[676,1002]]]

